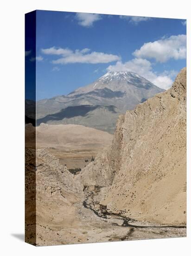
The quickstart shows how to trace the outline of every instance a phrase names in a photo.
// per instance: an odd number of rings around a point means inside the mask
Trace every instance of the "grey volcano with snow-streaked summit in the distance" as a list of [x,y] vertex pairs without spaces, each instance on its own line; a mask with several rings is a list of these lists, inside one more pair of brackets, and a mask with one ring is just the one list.
[[121,113],[162,92],[132,72],[108,72],[68,95],[37,102],[37,125],[79,124],[113,133]]

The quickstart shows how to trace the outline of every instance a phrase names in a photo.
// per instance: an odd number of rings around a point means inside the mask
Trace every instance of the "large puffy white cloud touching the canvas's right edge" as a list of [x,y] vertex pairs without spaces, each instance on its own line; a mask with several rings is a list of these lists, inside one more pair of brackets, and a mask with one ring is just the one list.
[[172,35],[169,38],[145,43],[133,54],[137,58],[155,59],[159,62],[166,62],[169,59],[185,59],[186,35]]

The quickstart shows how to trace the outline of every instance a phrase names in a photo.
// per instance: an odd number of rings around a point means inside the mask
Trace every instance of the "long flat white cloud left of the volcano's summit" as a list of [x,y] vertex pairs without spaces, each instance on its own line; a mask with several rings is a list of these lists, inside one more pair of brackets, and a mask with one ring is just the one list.
[[90,52],[89,48],[83,50],[72,51],[68,48],[51,47],[48,49],[41,49],[44,54],[61,55],[62,57],[53,60],[53,64],[68,64],[68,63],[108,63],[112,61],[119,61],[121,58],[114,54],[105,54],[100,52]]

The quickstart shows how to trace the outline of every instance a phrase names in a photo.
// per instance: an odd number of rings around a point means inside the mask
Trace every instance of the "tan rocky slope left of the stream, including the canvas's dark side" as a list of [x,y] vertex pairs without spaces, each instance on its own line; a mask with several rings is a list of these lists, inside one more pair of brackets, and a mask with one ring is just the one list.
[[34,245],[59,244],[63,240],[58,230],[79,222],[74,205],[82,200],[83,187],[46,149],[26,148],[25,156],[25,240]]

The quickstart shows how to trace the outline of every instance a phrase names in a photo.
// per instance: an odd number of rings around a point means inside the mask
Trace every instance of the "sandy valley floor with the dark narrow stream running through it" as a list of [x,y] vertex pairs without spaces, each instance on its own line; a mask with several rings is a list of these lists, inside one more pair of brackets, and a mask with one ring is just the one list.
[[[96,191],[84,191],[73,207],[70,226],[58,225],[54,219],[50,226],[38,227],[37,245],[97,243],[140,239],[185,237],[184,226],[157,226],[153,223],[136,222],[116,214],[108,214],[102,205],[95,205]],[[55,223],[55,224],[53,224]],[[56,224],[57,223],[57,224]]]

